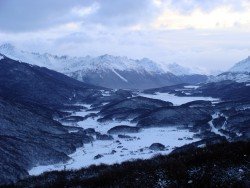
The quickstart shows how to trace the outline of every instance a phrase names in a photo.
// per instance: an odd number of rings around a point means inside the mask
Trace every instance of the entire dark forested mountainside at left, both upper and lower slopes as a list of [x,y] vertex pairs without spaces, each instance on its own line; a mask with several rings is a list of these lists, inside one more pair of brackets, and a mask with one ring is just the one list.
[[[92,103],[101,89],[47,68],[0,55],[0,184],[28,176],[42,164],[69,160],[68,154],[92,140],[81,129],[70,132],[53,117],[76,102]],[[66,105],[66,106],[65,106]]]

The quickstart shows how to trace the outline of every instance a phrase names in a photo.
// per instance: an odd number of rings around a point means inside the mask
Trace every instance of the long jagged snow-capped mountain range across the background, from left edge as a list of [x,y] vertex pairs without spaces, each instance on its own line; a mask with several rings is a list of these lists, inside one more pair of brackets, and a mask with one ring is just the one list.
[[[183,81],[179,75],[191,74],[188,68],[178,64],[170,64],[164,69],[160,64],[147,58],[134,60],[112,55],[57,56],[22,51],[11,44],[1,45],[0,53],[14,60],[47,67],[77,80],[109,88],[146,89],[187,83],[188,79]],[[204,75],[201,80],[199,78],[195,81],[204,81]]]

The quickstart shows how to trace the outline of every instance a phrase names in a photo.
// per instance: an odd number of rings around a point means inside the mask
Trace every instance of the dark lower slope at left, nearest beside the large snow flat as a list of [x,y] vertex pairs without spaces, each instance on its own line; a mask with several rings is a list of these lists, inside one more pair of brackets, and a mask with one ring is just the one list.
[[92,140],[84,132],[69,133],[46,108],[0,98],[0,185],[28,176],[37,165],[67,161],[67,154]]

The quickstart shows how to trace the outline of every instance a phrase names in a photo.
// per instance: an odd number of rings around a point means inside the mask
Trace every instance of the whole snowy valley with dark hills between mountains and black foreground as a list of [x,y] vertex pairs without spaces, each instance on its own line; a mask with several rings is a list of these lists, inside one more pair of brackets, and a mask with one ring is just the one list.
[[4,55],[0,68],[2,183],[250,138],[248,82],[125,90]]

